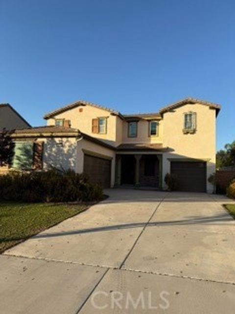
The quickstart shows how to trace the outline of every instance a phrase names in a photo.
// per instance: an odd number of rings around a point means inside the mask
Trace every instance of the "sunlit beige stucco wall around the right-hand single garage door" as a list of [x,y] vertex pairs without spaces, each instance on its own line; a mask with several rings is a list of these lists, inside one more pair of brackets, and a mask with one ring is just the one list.
[[[197,127],[194,134],[184,134],[184,112],[197,113]],[[215,110],[209,106],[190,104],[172,112],[164,113],[163,146],[172,149],[163,154],[163,178],[170,172],[169,158],[197,158],[207,160],[207,177],[215,172]],[[207,182],[208,192],[213,187]]]

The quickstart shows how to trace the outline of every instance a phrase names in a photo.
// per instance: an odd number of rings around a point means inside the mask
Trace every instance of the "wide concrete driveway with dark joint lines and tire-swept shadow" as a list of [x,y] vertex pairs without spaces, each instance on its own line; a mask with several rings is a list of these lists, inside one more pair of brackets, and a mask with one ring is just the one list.
[[2,314],[234,313],[231,200],[106,193],[0,256]]

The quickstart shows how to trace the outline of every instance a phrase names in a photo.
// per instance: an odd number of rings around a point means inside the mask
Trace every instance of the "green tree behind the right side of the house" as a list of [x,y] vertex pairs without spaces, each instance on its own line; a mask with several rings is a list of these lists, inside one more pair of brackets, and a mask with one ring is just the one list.
[[224,148],[216,154],[216,168],[235,165],[235,141],[226,144]]

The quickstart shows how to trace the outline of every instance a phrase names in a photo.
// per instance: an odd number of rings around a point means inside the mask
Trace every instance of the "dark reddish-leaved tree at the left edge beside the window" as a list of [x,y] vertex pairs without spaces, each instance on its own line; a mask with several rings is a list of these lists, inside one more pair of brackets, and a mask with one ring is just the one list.
[[0,167],[9,165],[14,156],[14,143],[11,132],[3,129],[0,132]]

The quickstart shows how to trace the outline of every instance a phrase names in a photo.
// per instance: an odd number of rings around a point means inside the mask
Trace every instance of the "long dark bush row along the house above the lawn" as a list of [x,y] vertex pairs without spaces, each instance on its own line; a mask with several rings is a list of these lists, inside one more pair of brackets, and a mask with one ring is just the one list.
[[0,176],[0,201],[87,202],[102,198],[102,188],[72,170],[11,172]]

